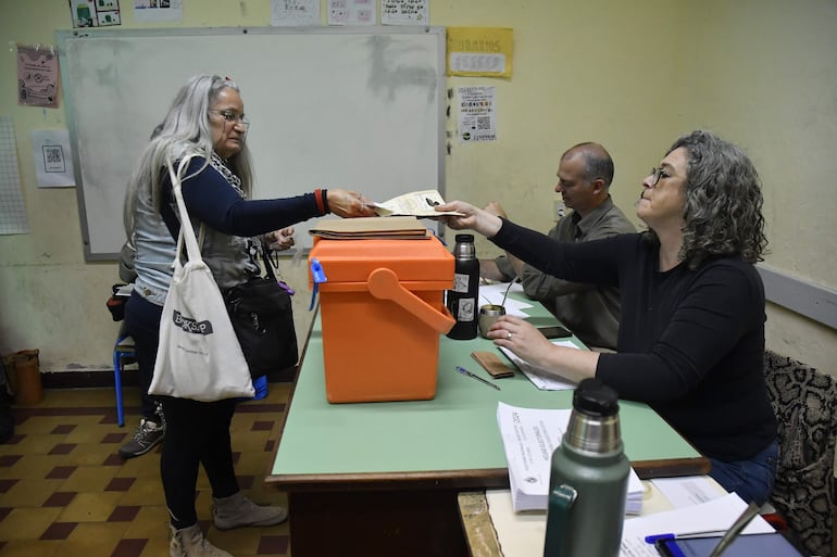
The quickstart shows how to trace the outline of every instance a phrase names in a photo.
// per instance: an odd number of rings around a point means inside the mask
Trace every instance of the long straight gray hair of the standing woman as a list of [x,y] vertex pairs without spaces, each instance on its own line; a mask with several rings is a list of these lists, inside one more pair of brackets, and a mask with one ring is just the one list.
[[[160,211],[160,187],[163,168],[173,166],[184,156],[197,154],[205,159],[201,170],[209,164],[213,151],[209,109],[222,90],[239,91],[235,81],[216,75],[197,75],[180,88],[163,122],[154,128],[151,141],[140,155],[128,181],[123,206],[125,232],[134,232],[134,210],[139,195],[150,195],[153,206]],[[227,161],[229,169],[241,179],[241,190],[250,194],[252,165],[250,151],[245,142],[241,151]]]

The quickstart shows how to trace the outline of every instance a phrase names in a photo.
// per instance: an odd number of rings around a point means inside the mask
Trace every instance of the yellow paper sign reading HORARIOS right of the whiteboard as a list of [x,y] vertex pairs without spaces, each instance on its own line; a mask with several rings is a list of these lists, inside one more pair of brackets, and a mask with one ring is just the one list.
[[512,29],[448,27],[448,75],[511,77]]

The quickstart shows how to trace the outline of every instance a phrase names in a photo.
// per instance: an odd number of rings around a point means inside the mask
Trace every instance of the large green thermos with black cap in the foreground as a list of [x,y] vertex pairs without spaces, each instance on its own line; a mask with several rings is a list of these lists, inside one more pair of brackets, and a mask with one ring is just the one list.
[[598,379],[585,379],[552,453],[544,557],[619,557],[629,471],[619,396]]

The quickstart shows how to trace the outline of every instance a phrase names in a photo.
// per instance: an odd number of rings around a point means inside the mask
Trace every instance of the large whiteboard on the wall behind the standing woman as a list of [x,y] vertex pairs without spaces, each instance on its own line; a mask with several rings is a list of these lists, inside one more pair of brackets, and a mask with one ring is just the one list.
[[[117,258],[130,170],[192,75],[229,76],[251,121],[255,199],[346,188],[444,194],[445,29],[57,31],[88,261]],[[297,244],[310,246],[308,229]]]

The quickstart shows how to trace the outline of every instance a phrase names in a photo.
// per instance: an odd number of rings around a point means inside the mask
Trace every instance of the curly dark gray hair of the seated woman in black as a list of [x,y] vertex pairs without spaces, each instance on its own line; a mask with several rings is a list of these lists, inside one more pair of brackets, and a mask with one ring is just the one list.
[[[749,263],[762,259],[764,236],[761,180],[750,157],[714,134],[696,130],[669,149],[687,152],[680,259],[690,269],[713,256],[738,254]],[[657,240],[657,235],[651,231]]]

